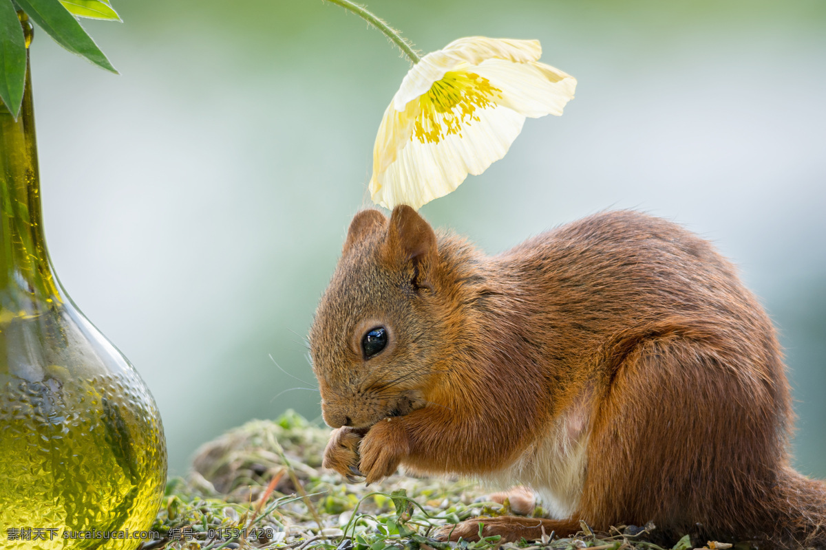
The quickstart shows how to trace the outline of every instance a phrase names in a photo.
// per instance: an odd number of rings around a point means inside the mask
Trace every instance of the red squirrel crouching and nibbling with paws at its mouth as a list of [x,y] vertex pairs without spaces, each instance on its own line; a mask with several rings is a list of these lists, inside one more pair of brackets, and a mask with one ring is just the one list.
[[789,465],[775,330],[675,223],[605,212],[485,256],[408,206],[363,210],[310,345],[326,467],[521,484],[553,517],[442,539],[650,520],[666,538],[826,548],[826,484]]

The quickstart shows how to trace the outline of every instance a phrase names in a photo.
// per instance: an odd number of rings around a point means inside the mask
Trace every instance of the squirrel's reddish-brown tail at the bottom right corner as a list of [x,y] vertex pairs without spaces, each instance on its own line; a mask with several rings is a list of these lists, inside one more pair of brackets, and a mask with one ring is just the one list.
[[778,548],[826,550],[826,482],[784,468],[772,508],[776,515],[771,543]]

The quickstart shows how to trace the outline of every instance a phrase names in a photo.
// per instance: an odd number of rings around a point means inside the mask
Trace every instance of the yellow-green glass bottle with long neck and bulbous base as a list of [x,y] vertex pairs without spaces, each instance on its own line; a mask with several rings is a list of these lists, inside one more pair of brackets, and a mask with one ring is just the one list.
[[143,380],[52,269],[31,65],[19,118],[0,102],[0,192],[0,548],[132,550],[163,496],[164,429]]

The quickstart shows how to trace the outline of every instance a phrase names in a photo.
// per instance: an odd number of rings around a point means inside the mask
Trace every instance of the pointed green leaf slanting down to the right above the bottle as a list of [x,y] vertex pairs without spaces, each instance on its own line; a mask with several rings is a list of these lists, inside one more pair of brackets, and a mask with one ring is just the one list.
[[60,0],[15,0],[15,2],[59,45],[74,54],[85,57],[107,71],[117,73],[92,37],[83,31],[78,20],[63,7]]

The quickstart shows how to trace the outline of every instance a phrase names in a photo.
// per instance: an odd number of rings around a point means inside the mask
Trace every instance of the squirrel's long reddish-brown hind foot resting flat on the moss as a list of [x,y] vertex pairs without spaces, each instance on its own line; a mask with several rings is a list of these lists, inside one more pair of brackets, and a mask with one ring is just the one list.
[[[482,526],[480,528],[480,525]],[[501,537],[500,543],[515,543],[521,538],[527,541],[542,540],[544,537],[569,537],[581,529],[577,519],[525,518],[503,515],[498,518],[467,519],[460,524],[444,525],[436,532],[440,541],[477,541],[482,537]]]

